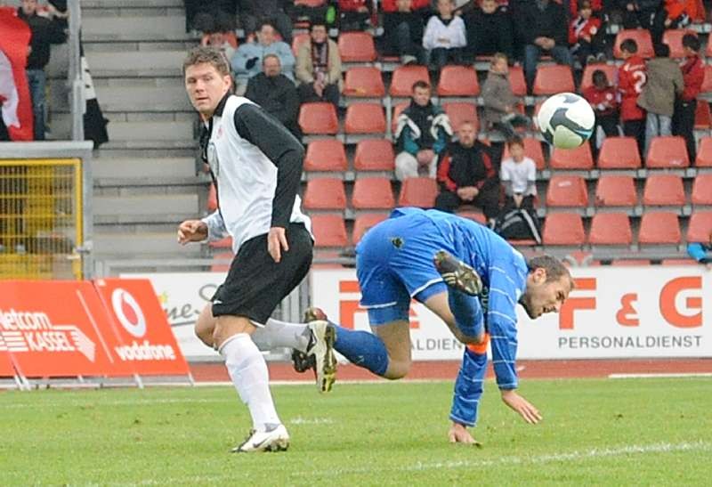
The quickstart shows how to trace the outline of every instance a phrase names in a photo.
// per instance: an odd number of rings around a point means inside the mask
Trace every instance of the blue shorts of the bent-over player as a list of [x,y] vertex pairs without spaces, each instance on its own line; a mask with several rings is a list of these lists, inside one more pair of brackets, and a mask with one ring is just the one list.
[[371,325],[409,321],[411,298],[423,303],[447,292],[433,264],[438,250],[456,253],[425,215],[391,218],[366,233],[356,248],[356,275]]

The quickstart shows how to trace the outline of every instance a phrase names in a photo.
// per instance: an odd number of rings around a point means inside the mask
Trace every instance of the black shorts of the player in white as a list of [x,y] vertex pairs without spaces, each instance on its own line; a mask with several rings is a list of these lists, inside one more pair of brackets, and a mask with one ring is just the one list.
[[312,265],[312,236],[302,223],[289,223],[287,243],[289,251],[282,251],[279,264],[267,251],[266,233],[243,243],[225,282],[215,291],[213,316],[245,316],[255,324],[266,323]]

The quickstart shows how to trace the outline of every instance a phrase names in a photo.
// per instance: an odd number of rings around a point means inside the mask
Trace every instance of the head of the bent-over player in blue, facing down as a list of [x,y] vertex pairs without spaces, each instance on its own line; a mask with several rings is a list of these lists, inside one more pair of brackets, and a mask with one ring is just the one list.
[[559,312],[573,288],[569,270],[552,256],[533,257],[527,263],[527,288],[520,299],[531,319],[545,312]]

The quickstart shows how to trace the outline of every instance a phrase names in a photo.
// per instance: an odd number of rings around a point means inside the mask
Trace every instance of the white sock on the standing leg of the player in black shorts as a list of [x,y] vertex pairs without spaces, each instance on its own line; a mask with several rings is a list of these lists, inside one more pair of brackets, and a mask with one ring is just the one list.
[[233,335],[223,342],[219,352],[240,399],[250,410],[255,430],[265,431],[265,425],[281,424],[270,394],[267,362],[250,336],[247,333]]

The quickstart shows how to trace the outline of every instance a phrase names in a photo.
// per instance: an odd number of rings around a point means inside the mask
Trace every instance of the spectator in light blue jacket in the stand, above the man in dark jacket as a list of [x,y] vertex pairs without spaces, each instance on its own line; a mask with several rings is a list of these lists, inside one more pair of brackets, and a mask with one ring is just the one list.
[[232,56],[232,70],[238,83],[238,94],[244,93],[247,79],[259,74],[263,57],[275,54],[279,57],[282,73],[289,79],[294,79],[295,55],[287,43],[277,39],[277,31],[271,22],[264,21],[257,31],[257,39],[238,47]]

